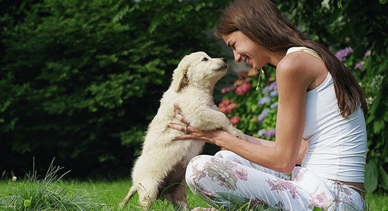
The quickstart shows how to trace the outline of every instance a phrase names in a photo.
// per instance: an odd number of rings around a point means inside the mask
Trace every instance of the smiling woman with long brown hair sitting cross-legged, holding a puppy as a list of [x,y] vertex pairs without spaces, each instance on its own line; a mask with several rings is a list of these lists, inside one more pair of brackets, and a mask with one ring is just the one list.
[[176,114],[184,125],[169,127],[187,134],[175,140],[228,149],[193,158],[186,171],[192,192],[230,210],[365,210],[367,106],[350,71],[269,0],[232,1],[215,36],[233,50],[236,62],[253,69],[276,66],[276,140],[247,136],[247,142],[221,130],[199,131]]

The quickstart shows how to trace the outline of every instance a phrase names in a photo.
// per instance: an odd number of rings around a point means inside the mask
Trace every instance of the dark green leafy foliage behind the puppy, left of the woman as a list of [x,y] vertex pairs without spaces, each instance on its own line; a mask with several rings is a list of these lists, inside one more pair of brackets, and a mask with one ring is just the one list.
[[33,155],[55,156],[80,175],[128,168],[179,60],[218,52],[205,34],[214,7],[222,8],[211,2],[23,5],[1,19],[11,20],[1,31],[1,169],[19,169]]

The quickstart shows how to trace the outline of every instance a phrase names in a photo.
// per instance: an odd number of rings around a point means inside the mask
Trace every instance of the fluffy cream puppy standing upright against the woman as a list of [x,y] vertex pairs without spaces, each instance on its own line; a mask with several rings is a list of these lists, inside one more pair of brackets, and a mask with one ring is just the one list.
[[168,123],[182,124],[174,118],[180,112],[192,127],[201,130],[224,129],[246,139],[233,127],[213,100],[214,85],[227,73],[224,58],[210,58],[204,52],[186,55],[174,70],[170,88],[163,94],[157,115],[146,133],[143,151],[132,171],[133,186],[122,202],[122,207],[137,191],[139,205],[150,208],[160,197],[165,197],[176,209],[187,210],[185,169],[188,162],[201,153],[203,145],[198,140],[172,141],[183,132],[171,129]]

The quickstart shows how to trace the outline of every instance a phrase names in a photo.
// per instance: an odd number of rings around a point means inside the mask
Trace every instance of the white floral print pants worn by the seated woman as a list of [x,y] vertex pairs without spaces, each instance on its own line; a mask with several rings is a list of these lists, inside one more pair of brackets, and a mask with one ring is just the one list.
[[221,210],[366,210],[363,197],[341,182],[298,166],[288,176],[231,151],[193,158],[186,182],[192,193]]

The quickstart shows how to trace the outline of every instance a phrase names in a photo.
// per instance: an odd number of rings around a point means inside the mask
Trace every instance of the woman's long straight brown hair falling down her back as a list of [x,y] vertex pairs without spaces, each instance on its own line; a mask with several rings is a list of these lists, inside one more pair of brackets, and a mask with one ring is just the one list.
[[269,0],[235,0],[220,16],[214,36],[240,31],[270,51],[304,46],[317,51],[332,75],[341,115],[349,117],[361,104],[367,111],[365,92],[347,67],[328,48],[299,32]]

